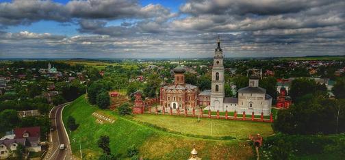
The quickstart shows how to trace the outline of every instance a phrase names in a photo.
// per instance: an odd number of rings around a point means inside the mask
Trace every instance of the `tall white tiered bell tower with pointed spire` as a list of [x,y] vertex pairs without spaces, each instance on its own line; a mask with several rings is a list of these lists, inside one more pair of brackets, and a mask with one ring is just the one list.
[[217,48],[214,51],[214,64],[212,67],[212,86],[211,86],[211,106],[212,111],[225,111],[223,108],[224,100],[224,59],[222,48],[220,48],[220,38],[217,40]]

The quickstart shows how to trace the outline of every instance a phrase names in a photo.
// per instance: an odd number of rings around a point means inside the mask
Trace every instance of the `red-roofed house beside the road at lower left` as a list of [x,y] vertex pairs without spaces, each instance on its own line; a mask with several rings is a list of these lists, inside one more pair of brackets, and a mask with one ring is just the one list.
[[26,139],[25,148],[29,152],[41,151],[40,146],[40,126],[31,126],[14,129],[15,139]]

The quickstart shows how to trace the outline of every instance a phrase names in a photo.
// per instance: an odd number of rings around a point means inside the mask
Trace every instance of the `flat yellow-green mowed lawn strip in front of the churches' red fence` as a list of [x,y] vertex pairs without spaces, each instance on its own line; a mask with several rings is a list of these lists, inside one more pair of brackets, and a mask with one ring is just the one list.
[[217,120],[209,118],[188,118],[183,116],[163,116],[141,114],[133,116],[134,120],[155,124],[168,131],[188,133],[192,135],[231,136],[238,139],[247,138],[250,134],[263,136],[273,133],[271,123],[240,120]]

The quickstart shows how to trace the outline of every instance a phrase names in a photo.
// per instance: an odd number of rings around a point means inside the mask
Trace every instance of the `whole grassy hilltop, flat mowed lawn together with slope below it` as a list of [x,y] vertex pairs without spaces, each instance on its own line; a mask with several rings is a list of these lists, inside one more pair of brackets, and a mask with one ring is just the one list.
[[[111,118],[114,123],[104,122],[100,124],[97,118],[92,116],[96,112]],[[263,135],[272,133],[270,124],[258,123],[255,127],[253,122],[230,122],[212,120],[212,135],[210,135],[210,120],[202,119],[196,124],[196,118],[183,118],[175,116],[126,116],[120,117],[114,111],[100,110],[86,101],[84,96],[77,98],[71,105],[64,108],[63,120],[66,123],[68,116],[73,116],[79,125],[76,131],[69,132],[73,154],[80,157],[79,143],[83,155],[86,159],[96,159],[102,154],[97,146],[97,140],[101,135],[110,136],[110,148],[115,155],[126,157],[127,148],[135,145],[140,151],[140,157],[144,159],[188,159],[193,144],[199,151],[199,157],[203,159],[251,159],[253,150],[248,141],[241,140],[248,136],[248,133],[257,133],[262,129]],[[165,119],[166,118],[166,119]],[[138,120],[159,124],[175,122],[173,125],[165,125],[166,130],[137,122]],[[219,121],[219,122],[218,122]],[[229,122],[229,124],[225,124]],[[181,126],[177,127],[177,123]],[[216,124],[220,123],[220,124]],[[172,124],[172,123],[170,123]],[[245,129],[242,129],[244,127]],[[227,129],[229,128],[229,129]],[[264,128],[264,129],[263,129]],[[171,130],[179,131],[172,133]],[[199,135],[209,135],[213,137],[229,135],[237,139],[207,139],[203,137],[188,136],[183,133],[192,133]],[[260,132],[260,133],[261,133]]]

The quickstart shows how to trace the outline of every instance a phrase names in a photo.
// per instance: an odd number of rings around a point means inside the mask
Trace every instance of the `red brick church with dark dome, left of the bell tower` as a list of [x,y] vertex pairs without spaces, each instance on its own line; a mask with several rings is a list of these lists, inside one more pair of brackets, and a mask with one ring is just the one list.
[[182,66],[174,68],[175,81],[170,85],[160,88],[160,105],[168,111],[179,108],[192,109],[198,105],[199,88],[185,83],[186,69]]

